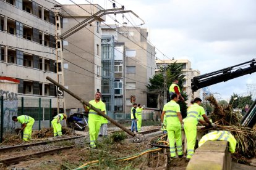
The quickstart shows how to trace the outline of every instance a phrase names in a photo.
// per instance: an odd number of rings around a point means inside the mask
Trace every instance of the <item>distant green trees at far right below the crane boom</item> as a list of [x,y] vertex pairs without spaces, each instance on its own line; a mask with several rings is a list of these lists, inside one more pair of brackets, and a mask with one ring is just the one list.
[[[237,100],[234,100],[234,98],[237,97]],[[241,108],[242,111],[245,110],[245,105],[252,105],[254,101],[252,100],[252,96],[248,95],[245,97],[238,96],[237,94],[231,95],[231,99],[229,100],[229,105],[232,105],[233,108]]]

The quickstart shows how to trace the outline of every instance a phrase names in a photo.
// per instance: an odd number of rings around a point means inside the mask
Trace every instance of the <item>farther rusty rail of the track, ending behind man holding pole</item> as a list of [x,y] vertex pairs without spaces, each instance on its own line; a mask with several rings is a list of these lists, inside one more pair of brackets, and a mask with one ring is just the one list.
[[30,146],[35,146],[35,145],[46,145],[46,144],[53,143],[53,142],[60,142],[62,140],[70,140],[70,139],[72,140],[72,139],[77,139],[80,137],[85,137],[85,136],[72,136],[72,137],[65,137],[65,138],[56,139],[56,140],[46,140],[43,142],[34,142],[34,143],[30,143],[30,144],[14,145],[11,147],[3,147],[3,148],[0,148],[0,152],[6,152],[8,150],[14,150],[14,149],[18,149],[18,148],[30,147]]

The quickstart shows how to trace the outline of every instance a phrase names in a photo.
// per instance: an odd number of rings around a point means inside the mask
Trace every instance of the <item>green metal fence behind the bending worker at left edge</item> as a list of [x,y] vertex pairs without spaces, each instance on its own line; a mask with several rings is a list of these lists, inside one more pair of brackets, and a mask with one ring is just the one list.
[[0,99],[0,142],[5,133],[14,132],[20,127],[20,123],[14,123],[12,116],[28,115],[35,119],[33,129],[40,130],[42,127],[50,127],[51,123],[51,99],[17,97],[13,99]]

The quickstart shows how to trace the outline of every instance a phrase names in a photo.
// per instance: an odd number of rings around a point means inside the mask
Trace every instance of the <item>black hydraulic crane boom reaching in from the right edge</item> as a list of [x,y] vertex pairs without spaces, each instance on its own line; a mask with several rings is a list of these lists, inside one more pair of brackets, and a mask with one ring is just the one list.
[[224,68],[222,70],[213,71],[205,75],[196,76],[191,79],[192,91],[197,91],[203,87],[211,86],[222,81],[228,81],[229,79],[238,78],[247,74],[256,72],[256,59],[244,62],[232,67]]

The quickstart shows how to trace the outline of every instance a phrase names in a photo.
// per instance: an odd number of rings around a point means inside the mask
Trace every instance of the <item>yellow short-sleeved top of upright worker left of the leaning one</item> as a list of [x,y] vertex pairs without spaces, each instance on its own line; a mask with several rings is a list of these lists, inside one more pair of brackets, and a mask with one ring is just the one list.
[[177,112],[181,112],[179,105],[171,100],[164,105],[163,111],[165,111],[167,124],[181,124],[177,116]]

